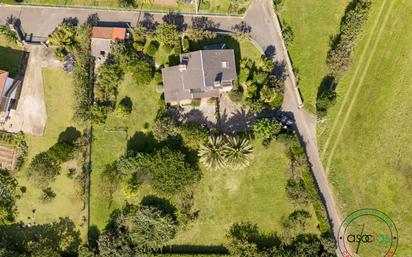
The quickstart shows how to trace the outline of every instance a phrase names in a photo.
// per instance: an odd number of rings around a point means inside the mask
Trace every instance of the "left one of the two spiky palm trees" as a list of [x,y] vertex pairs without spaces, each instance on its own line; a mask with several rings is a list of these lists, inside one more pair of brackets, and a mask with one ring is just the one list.
[[226,166],[225,141],[221,136],[210,136],[208,142],[200,145],[200,161],[208,168],[222,169]]

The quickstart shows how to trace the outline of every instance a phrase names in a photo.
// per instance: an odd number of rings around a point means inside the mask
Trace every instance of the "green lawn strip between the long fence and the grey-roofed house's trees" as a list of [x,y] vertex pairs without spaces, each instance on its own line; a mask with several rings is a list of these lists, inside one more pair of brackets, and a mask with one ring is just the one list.
[[155,87],[154,84],[137,86],[131,77],[126,76],[119,88],[118,101],[123,97],[130,97],[133,102],[132,113],[127,117],[111,113],[106,126],[95,127],[93,130],[90,212],[91,224],[100,229],[105,226],[110,213],[121,207],[126,199],[133,202],[133,197],[128,197],[119,190],[110,203],[108,197],[101,194],[100,174],[106,165],[126,153],[127,146],[138,140],[139,132],[147,130],[145,126],[150,128],[156,117],[160,98]]

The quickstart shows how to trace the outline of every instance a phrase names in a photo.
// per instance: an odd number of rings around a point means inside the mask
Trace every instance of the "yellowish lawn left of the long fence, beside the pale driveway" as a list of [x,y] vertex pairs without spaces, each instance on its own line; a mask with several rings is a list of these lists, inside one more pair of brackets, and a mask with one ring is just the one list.
[[[29,146],[29,161],[37,153],[54,145],[60,133],[65,131],[67,127],[75,126],[72,122],[71,76],[61,69],[44,69],[43,80],[48,115],[47,125],[42,137],[26,135]],[[27,192],[17,201],[18,220],[41,224],[58,220],[59,217],[69,217],[85,235],[86,225],[80,227],[84,223],[83,216],[85,215],[83,201],[76,197],[73,179],[66,176],[69,166],[76,167],[77,164],[73,161],[65,163],[61,174],[55,182],[51,183],[50,186],[56,193],[56,198],[50,203],[43,203],[40,200],[41,190],[25,176],[27,167],[16,174],[19,186],[27,187]],[[36,210],[34,214],[33,210]]]

